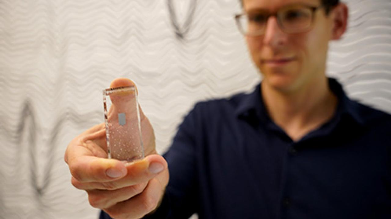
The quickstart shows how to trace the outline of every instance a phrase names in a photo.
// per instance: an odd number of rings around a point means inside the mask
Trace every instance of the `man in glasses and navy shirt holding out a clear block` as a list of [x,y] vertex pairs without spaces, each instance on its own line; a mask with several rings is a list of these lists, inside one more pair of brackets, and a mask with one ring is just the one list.
[[105,159],[104,125],[92,127],[66,150],[72,184],[102,219],[391,218],[391,116],[325,76],[346,5],[242,3],[236,19],[263,78],[254,92],[196,104],[164,158],[141,112],[146,158],[128,166]]

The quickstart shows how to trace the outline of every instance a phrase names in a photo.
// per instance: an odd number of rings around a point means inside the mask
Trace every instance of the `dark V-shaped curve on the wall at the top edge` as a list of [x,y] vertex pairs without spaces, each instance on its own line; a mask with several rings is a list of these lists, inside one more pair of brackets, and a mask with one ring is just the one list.
[[183,23],[183,26],[179,26],[174,3],[172,2],[172,0],[167,0],[167,8],[170,15],[171,25],[174,28],[176,37],[178,37],[179,39],[185,39],[185,35],[190,30],[196,6],[197,6],[197,0],[191,0],[190,7],[187,11],[187,15],[185,18],[185,22]]

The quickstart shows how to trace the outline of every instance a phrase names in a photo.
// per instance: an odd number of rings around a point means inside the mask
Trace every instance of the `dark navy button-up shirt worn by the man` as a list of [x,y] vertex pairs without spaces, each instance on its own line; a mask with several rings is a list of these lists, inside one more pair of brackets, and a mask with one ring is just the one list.
[[197,103],[164,155],[163,201],[145,218],[390,219],[391,116],[329,86],[334,116],[299,141],[271,120],[260,85]]

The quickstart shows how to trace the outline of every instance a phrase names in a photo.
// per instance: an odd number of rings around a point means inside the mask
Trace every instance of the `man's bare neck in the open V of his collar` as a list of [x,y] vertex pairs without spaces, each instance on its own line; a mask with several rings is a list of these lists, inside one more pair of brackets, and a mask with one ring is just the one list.
[[337,98],[326,77],[289,92],[262,83],[262,97],[271,119],[294,141],[328,121],[335,111]]

